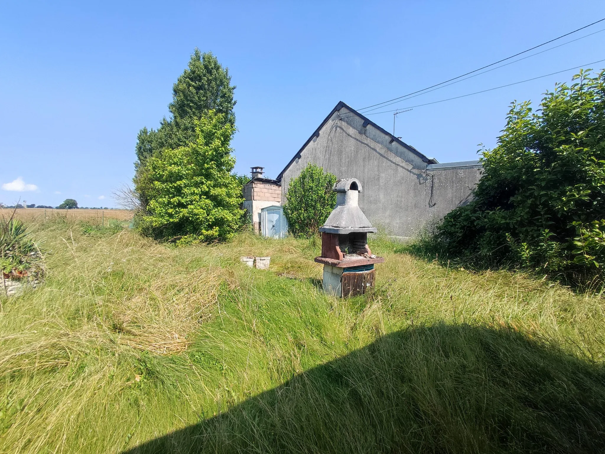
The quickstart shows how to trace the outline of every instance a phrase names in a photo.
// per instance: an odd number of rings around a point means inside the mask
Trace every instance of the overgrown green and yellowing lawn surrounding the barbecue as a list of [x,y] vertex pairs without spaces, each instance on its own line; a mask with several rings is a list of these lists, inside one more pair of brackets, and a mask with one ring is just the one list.
[[34,227],[45,284],[1,300],[0,452],[603,452],[600,295],[378,238],[375,290],[339,300],[318,241],[103,232]]

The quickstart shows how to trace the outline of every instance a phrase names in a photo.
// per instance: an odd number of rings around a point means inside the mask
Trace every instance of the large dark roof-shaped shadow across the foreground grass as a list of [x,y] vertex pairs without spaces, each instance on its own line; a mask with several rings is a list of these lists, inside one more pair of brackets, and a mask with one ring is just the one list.
[[418,326],[127,451],[603,452],[605,371],[508,329]]

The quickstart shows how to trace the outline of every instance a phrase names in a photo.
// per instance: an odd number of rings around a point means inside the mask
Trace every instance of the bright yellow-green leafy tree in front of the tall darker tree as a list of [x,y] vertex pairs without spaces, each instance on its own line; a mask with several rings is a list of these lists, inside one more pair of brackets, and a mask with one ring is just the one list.
[[194,122],[194,141],[148,158],[140,184],[149,201],[140,227],[155,238],[223,240],[240,227],[243,198],[229,148],[235,126],[224,117],[208,111]]

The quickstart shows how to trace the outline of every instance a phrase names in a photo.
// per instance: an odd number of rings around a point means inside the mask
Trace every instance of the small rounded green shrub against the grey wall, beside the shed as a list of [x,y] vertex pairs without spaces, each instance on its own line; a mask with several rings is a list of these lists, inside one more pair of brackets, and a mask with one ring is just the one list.
[[311,163],[290,181],[284,215],[294,236],[317,235],[336,206],[335,183],[335,175]]

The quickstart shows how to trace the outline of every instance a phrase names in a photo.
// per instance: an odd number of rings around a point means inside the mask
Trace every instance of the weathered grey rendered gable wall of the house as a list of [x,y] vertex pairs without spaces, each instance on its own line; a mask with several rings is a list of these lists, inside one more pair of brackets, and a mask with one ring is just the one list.
[[468,203],[479,180],[476,163],[434,164],[345,105],[318,132],[280,174],[282,204],[290,180],[314,163],[337,178],[358,178],[364,188],[359,206],[370,222],[409,237],[430,219]]

